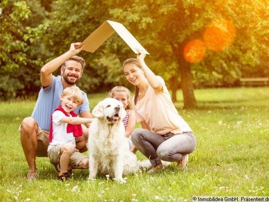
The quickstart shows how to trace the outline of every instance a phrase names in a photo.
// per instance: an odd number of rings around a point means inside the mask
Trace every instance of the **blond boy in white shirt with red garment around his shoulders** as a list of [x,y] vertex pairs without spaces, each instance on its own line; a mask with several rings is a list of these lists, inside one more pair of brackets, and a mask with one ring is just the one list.
[[83,96],[77,86],[67,87],[60,95],[61,105],[51,117],[48,156],[58,168],[58,180],[70,178],[72,169],[87,169],[89,158],[76,149],[75,137],[82,135],[81,124],[91,123],[93,119],[77,117],[73,112],[83,103]]

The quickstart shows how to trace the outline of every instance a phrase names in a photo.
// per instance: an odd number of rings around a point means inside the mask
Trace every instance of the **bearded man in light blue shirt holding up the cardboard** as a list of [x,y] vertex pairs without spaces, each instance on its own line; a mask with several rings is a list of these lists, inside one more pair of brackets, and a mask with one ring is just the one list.
[[[29,170],[28,180],[35,180],[38,177],[36,167],[36,156],[48,157],[51,115],[60,104],[60,95],[64,88],[73,86],[82,76],[85,61],[76,56],[81,52],[82,47],[76,48],[80,43],[71,44],[69,51],[55,58],[40,71],[42,88],[39,92],[36,106],[31,117],[25,118],[19,131],[20,141],[26,157]],[[53,72],[60,67],[61,75],[55,77]],[[80,117],[93,118],[89,109],[89,101],[85,92],[83,104],[74,112]],[[86,124],[89,128],[90,124]],[[76,148],[80,152],[87,150],[88,129],[83,126],[83,135],[76,138]]]

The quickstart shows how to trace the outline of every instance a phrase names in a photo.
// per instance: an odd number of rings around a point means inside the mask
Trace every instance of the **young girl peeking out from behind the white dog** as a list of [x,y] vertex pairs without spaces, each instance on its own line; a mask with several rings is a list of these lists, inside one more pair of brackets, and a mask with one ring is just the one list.
[[108,92],[108,96],[120,101],[126,110],[126,117],[122,120],[125,128],[125,137],[127,137],[130,151],[136,153],[137,149],[131,139],[131,133],[135,128],[135,114],[131,104],[131,91],[123,86],[115,86]]

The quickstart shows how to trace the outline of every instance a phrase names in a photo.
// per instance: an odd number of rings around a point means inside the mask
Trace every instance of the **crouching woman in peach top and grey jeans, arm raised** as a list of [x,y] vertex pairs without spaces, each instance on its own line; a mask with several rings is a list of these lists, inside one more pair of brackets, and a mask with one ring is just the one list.
[[170,94],[161,76],[146,65],[146,55],[138,50],[137,59],[128,59],[123,64],[126,79],[135,86],[133,108],[142,129],[135,129],[132,140],[137,149],[150,159],[153,173],[163,169],[161,160],[188,165],[188,154],[196,145],[189,125],[174,107]]

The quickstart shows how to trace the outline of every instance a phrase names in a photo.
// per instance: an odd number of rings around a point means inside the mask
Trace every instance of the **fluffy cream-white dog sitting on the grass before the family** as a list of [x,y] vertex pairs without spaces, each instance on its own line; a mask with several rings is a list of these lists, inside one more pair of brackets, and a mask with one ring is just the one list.
[[98,173],[126,182],[122,175],[139,170],[135,154],[129,151],[122,119],[126,116],[123,104],[106,98],[93,109],[94,121],[89,128],[89,179]]

